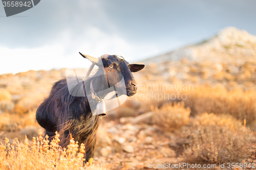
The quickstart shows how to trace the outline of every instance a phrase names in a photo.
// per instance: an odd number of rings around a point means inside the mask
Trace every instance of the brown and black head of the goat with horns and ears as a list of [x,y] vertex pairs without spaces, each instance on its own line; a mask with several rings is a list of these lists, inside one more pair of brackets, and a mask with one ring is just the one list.
[[[80,53],[81,54],[81,53]],[[99,66],[100,71],[105,72],[105,79],[109,86],[122,86],[119,82],[123,79],[125,83],[126,95],[132,96],[137,91],[137,86],[132,72],[137,72],[144,68],[143,64],[129,64],[123,57],[117,55],[102,55],[100,58],[94,58],[81,54],[89,59],[93,64]],[[102,66],[103,64],[103,66]]]

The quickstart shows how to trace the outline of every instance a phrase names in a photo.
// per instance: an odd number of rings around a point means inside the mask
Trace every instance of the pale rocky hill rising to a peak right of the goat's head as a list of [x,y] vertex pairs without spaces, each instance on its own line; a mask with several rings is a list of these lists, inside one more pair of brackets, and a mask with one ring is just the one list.
[[256,36],[228,27],[211,39],[143,62],[151,82],[252,89],[256,87]]

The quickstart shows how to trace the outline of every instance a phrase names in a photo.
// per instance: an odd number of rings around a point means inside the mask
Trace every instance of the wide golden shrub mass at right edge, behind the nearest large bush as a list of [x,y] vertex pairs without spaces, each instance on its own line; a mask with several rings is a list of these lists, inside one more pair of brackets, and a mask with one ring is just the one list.
[[185,91],[185,105],[191,108],[191,115],[200,113],[230,114],[248,123],[256,119],[256,92],[232,90],[224,87],[198,87]]

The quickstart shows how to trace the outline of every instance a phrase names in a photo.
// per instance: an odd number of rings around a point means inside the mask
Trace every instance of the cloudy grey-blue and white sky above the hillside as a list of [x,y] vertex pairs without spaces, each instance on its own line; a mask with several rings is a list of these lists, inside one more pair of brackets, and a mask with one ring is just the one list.
[[10,17],[1,4],[0,74],[88,67],[78,52],[139,62],[225,27],[256,35],[255,16],[254,0],[41,0]]

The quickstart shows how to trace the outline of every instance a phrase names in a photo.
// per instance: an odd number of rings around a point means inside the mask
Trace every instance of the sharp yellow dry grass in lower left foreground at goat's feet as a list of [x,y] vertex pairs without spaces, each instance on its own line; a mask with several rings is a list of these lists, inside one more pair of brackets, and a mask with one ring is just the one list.
[[[0,145],[0,169],[106,169],[103,167],[83,165],[84,144],[78,146],[73,138],[70,140],[68,149],[58,145],[59,135],[49,143],[48,136],[32,139],[32,144],[25,139],[24,144],[14,139],[10,144],[5,138],[5,143]],[[31,145],[31,147],[30,147]]]

